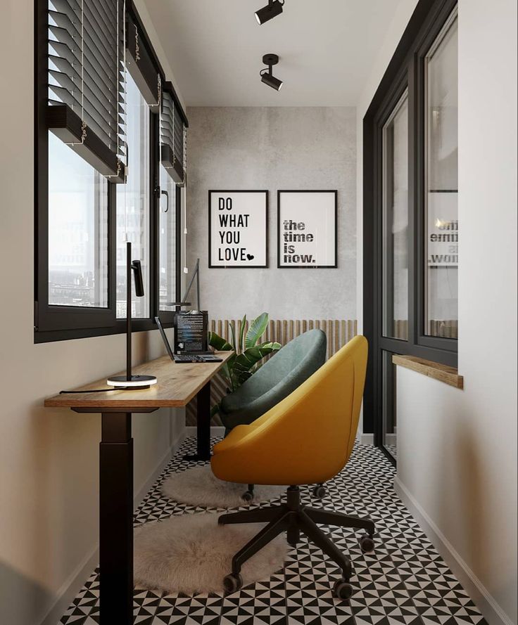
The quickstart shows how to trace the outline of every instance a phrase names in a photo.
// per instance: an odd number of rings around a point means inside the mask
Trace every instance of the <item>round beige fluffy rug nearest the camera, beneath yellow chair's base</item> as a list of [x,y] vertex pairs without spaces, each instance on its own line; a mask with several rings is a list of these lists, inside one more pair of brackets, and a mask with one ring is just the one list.
[[[217,525],[215,514],[179,515],[136,529],[134,580],[139,588],[165,593],[222,593],[232,556],[264,524]],[[268,579],[282,569],[286,536],[281,534],[248,560],[244,585]]]

